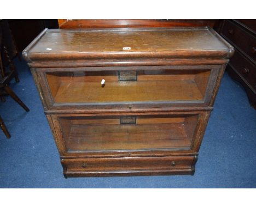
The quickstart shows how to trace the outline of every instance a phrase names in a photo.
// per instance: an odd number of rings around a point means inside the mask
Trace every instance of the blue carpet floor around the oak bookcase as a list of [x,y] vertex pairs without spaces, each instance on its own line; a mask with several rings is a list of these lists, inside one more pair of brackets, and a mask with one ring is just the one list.
[[30,108],[10,97],[0,114],[0,188],[256,188],[256,111],[240,84],[226,73],[199,152],[194,176],[63,178],[59,154],[25,61],[15,60],[20,83],[10,87]]

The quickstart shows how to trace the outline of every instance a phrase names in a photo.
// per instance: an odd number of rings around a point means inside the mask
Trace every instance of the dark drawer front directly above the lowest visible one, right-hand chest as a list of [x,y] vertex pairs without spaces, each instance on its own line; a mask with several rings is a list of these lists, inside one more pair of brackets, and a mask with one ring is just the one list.
[[256,62],[256,36],[230,21],[225,21],[222,34]]

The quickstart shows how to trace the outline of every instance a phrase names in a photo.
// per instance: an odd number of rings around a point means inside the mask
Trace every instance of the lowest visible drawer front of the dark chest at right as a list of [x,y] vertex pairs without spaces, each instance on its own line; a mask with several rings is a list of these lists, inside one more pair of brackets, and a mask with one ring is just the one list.
[[236,51],[229,63],[240,74],[248,85],[256,90],[256,66]]

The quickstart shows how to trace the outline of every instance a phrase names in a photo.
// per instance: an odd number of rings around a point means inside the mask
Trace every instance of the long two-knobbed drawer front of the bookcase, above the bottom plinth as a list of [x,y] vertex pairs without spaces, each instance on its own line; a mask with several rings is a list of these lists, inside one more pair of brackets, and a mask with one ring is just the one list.
[[152,170],[190,170],[194,156],[173,157],[125,157],[125,158],[74,158],[62,159],[67,173],[85,172],[139,172]]

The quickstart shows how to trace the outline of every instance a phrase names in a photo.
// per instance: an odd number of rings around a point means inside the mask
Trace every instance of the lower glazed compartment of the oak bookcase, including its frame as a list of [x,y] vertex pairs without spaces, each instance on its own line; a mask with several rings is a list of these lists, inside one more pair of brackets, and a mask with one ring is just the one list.
[[[189,151],[205,131],[209,112],[51,115],[61,155]],[[197,150],[193,150],[197,151]]]

